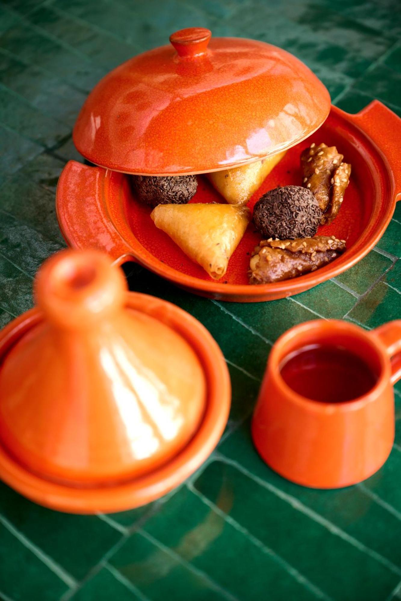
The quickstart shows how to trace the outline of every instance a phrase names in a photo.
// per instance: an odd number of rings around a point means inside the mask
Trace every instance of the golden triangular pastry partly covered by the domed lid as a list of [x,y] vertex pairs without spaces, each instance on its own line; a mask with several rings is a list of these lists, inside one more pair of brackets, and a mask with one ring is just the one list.
[[284,154],[285,151],[249,165],[214,171],[208,173],[208,179],[229,204],[246,204]]

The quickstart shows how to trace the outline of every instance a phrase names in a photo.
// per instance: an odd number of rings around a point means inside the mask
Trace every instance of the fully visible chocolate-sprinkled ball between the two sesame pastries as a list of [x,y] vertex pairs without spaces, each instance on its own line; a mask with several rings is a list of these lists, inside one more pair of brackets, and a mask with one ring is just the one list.
[[316,198],[302,186],[270,190],[253,208],[253,222],[266,239],[312,237],[317,232],[321,217]]

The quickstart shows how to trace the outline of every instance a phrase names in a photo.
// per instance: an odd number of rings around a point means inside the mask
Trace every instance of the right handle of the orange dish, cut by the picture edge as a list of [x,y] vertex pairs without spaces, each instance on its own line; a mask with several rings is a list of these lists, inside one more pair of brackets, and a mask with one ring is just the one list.
[[393,196],[396,201],[401,200],[401,118],[379,100],[348,117],[381,151],[393,180]]

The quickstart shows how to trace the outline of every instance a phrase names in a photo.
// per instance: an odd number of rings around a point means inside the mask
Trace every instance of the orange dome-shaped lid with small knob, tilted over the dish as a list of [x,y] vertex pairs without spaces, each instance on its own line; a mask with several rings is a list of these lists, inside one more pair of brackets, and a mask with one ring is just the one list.
[[202,173],[290,148],[330,97],[295,56],[262,41],[182,29],[93,89],[73,131],[96,165],[143,175]]

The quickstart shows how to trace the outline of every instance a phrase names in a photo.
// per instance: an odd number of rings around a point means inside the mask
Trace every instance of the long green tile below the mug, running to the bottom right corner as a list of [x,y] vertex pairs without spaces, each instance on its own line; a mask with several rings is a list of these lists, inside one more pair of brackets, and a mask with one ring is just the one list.
[[[395,567],[393,571],[379,563],[297,510],[296,501],[281,498],[234,466],[213,462],[194,486],[332,599],[378,601],[399,581]],[[336,569],[340,565],[352,569]]]

